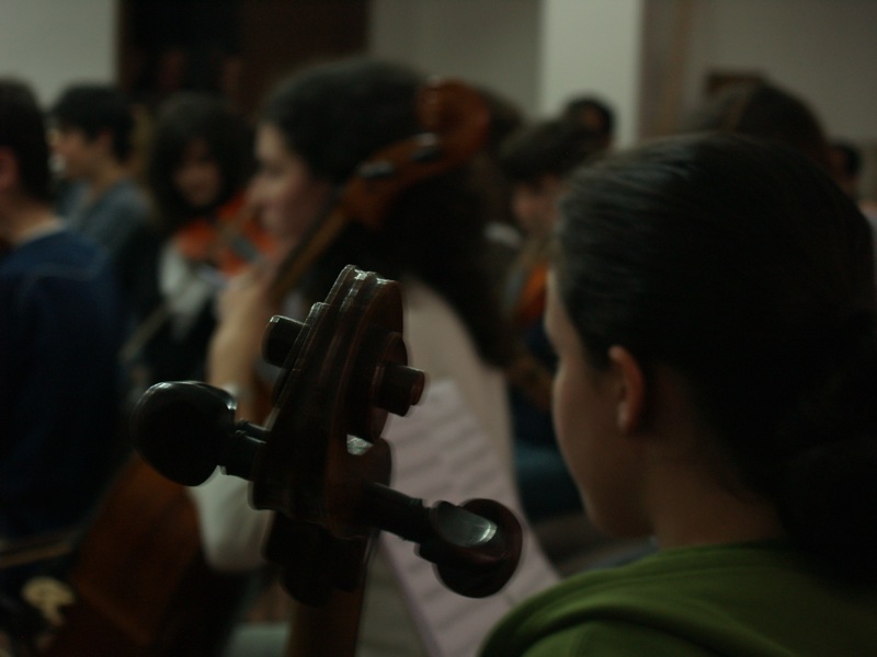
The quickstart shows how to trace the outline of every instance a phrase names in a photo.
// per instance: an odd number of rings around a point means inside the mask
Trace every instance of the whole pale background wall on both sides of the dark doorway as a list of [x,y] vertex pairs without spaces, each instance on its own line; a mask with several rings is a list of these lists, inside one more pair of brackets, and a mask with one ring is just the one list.
[[[69,81],[114,79],[117,2],[0,0],[0,74],[46,102]],[[710,71],[764,74],[832,135],[877,141],[874,0],[372,0],[367,23],[368,51],[468,77],[531,116],[604,95],[622,142],[672,125]]]

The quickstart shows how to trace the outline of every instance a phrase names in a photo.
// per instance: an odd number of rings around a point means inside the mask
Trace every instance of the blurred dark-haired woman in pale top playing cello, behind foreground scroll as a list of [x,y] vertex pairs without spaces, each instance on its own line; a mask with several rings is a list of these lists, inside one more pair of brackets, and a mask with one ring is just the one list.
[[[300,245],[331,212],[339,189],[361,163],[423,131],[415,97],[424,82],[402,67],[348,60],[306,70],[276,88],[258,126],[252,200],[281,251]],[[251,391],[260,382],[255,364],[270,316],[281,311],[300,316],[324,297],[344,265],[355,264],[401,283],[409,362],[433,382],[456,383],[501,466],[510,470],[509,413],[499,368],[505,335],[482,264],[482,200],[467,165],[413,182],[399,189],[379,227],[348,222],[282,308],[274,302],[272,281],[288,260],[251,269],[221,299],[208,382],[237,394],[241,417],[257,417]],[[215,477],[193,491],[215,565],[260,563],[269,514],[247,506],[244,488],[241,480]],[[361,654],[369,648],[380,655],[425,654],[380,555],[367,581]]]

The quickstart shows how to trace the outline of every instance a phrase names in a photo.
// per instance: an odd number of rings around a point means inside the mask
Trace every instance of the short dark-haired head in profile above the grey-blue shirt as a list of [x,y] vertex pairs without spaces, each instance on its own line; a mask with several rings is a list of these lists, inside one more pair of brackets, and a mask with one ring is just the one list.
[[111,84],[68,88],[50,116],[55,151],[68,178],[88,178],[107,159],[125,163],[132,153],[134,117],[125,94]]

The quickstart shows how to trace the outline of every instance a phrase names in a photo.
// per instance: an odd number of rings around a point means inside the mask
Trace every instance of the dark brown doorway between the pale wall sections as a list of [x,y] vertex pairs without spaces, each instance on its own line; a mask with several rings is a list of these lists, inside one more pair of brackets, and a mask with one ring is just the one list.
[[203,90],[250,116],[287,72],[363,53],[368,11],[369,0],[121,0],[119,83],[152,110]]

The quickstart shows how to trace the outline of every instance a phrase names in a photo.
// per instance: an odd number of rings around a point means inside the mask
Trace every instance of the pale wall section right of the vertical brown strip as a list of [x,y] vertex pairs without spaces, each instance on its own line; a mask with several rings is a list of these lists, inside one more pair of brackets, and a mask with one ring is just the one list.
[[877,2],[696,0],[692,9],[685,106],[709,69],[752,70],[810,100],[829,132],[877,138]]

